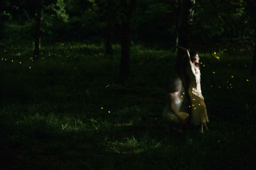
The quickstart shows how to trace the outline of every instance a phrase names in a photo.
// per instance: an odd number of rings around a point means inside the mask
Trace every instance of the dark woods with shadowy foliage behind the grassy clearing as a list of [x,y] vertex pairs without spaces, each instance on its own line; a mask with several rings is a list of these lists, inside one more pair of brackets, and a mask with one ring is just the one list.
[[[252,52],[255,41],[252,38],[255,37],[253,9],[255,2],[252,0],[1,1],[0,33],[2,38],[6,36],[4,22],[33,22],[33,57],[40,55],[41,39],[104,41],[109,58],[113,55],[113,43],[120,43],[118,81],[122,82],[129,77],[131,41],[152,48],[175,49],[179,43],[185,48],[192,45],[200,51],[222,49],[230,53],[241,53],[237,47],[243,46],[243,52]],[[177,68],[184,70],[182,55],[178,51]],[[182,79],[186,81],[185,77]]]

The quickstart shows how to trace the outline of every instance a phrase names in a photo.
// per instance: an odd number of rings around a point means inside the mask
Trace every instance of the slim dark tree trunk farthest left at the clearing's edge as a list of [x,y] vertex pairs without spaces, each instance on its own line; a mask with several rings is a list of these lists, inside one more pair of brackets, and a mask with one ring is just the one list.
[[41,10],[42,10],[42,6],[41,4],[38,4],[38,10],[36,10],[36,39],[35,39],[35,51],[34,51],[35,58],[39,56],[39,50],[40,50]]

